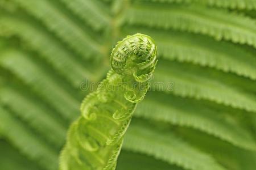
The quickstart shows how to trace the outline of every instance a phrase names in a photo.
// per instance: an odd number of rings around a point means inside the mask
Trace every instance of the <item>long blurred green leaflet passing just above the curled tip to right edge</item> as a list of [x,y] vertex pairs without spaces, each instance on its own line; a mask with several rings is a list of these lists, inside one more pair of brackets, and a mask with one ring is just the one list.
[[[177,29],[209,35],[216,40],[256,47],[255,20],[214,8],[192,6],[134,6],[127,11],[123,24],[152,28]],[[221,27],[220,27],[221,25]]]

